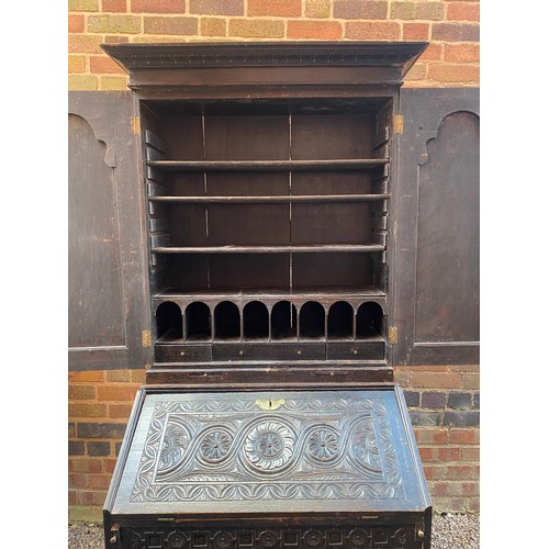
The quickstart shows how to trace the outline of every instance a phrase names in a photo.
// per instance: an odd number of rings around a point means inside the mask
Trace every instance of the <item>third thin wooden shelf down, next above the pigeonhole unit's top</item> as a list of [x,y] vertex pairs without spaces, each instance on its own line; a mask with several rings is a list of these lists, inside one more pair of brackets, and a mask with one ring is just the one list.
[[384,251],[381,244],[325,244],[303,246],[158,246],[153,254],[365,254]]

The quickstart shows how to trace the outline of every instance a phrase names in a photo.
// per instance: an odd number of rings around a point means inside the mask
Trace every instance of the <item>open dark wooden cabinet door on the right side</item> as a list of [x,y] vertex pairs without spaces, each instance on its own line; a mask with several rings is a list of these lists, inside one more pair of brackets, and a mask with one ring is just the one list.
[[479,362],[479,90],[401,90],[393,365]]

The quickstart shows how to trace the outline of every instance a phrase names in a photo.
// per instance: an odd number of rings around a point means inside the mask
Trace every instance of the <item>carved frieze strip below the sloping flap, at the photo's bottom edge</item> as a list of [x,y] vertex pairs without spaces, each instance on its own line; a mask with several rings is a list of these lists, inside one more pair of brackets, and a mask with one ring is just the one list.
[[[268,529],[172,529],[172,528],[123,528],[122,547],[131,549],[279,549],[283,547],[305,547],[323,549],[327,547],[366,549],[417,547],[413,542],[413,526],[348,526],[298,527]],[[407,545],[406,545],[407,542]]]

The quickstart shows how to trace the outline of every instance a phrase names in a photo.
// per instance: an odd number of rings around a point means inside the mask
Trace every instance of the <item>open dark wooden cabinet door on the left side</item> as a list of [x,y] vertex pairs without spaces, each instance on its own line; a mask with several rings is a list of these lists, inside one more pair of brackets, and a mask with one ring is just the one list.
[[[69,369],[149,361],[137,135],[128,92],[69,92]],[[145,337],[143,337],[145,332]]]

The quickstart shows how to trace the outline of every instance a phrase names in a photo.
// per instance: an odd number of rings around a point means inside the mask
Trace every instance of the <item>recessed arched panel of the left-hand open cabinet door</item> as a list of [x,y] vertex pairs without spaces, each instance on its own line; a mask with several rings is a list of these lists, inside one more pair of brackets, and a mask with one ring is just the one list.
[[86,120],[68,132],[69,346],[125,346],[114,170]]

